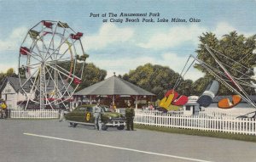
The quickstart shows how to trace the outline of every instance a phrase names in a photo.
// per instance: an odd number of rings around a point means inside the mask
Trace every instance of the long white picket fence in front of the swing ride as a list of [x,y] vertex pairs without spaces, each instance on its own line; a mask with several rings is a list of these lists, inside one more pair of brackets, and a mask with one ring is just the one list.
[[137,110],[134,123],[147,126],[256,135],[256,121],[253,119],[219,118],[218,116],[208,115],[184,116]]

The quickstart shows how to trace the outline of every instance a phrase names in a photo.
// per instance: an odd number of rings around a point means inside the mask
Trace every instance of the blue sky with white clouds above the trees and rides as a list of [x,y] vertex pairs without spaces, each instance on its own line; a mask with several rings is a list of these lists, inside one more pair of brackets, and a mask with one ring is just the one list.
[[[95,1],[95,0],[0,0],[0,71],[17,70],[20,44],[26,32],[41,20],[67,22],[84,33],[82,42],[87,62],[107,70],[108,76],[134,70],[146,63],[167,65],[180,72],[189,54],[195,55],[198,36],[212,31],[218,37],[237,31],[256,34],[256,1]],[[159,13],[168,23],[103,23],[90,13]],[[147,17],[147,19],[150,17]],[[170,22],[172,18],[187,23]],[[190,18],[201,22],[189,22]],[[109,21],[109,17],[107,17]],[[189,70],[185,78],[196,80],[202,74]]]

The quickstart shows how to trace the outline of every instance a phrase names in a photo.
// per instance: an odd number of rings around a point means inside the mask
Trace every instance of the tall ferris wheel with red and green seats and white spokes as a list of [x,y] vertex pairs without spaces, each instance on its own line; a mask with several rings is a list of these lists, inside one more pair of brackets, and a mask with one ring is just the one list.
[[[26,106],[64,104],[82,81],[85,59],[83,33],[61,21],[42,20],[26,34],[20,46],[20,87]],[[26,108],[25,108],[26,109]]]

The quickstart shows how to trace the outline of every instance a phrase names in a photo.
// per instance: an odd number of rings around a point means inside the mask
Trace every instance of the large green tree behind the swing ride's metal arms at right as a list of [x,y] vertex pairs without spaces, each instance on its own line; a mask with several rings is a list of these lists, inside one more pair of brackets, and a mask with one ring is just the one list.
[[[205,47],[205,45],[207,45],[208,47],[211,47],[219,52],[217,53],[212,50],[212,52],[215,54],[218,60],[221,61],[222,64],[224,64],[224,67],[230,72],[231,75],[235,76],[236,78],[245,78],[246,75],[254,75],[253,67],[255,67],[256,65],[256,54],[253,54],[253,50],[255,49],[256,46],[256,35],[245,37],[243,35],[238,35],[236,31],[232,31],[229,34],[224,35],[222,36],[222,38],[218,39],[213,33],[207,32],[203,33],[202,36],[200,36],[199,38],[201,43],[198,49],[196,50],[196,53],[198,53],[198,59],[201,59],[210,66],[217,68],[218,70],[221,70],[219,65],[212,58],[211,54],[208,53]],[[224,57],[220,53],[224,54],[224,56],[226,57]],[[250,70],[242,68],[242,66],[228,59],[227,57],[235,60],[243,66],[246,66]],[[208,73],[207,70],[201,67],[200,64],[195,64],[195,68],[201,70],[206,74],[204,78],[200,78],[198,81],[195,81],[194,83],[193,87],[195,87],[195,93],[198,93],[199,90],[201,90],[201,88],[203,87],[203,85],[211,81],[213,77]],[[237,70],[241,71],[241,73],[239,73]],[[250,83],[253,80],[250,77],[247,77],[247,80],[244,81]],[[200,82],[203,82],[204,84],[201,84]],[[252,87],[244,86],[243,88],[249,94],[255,92],[254,88]],[[230,94],[230,91],[226,87],[221,85],[218,94],[226,95]]]

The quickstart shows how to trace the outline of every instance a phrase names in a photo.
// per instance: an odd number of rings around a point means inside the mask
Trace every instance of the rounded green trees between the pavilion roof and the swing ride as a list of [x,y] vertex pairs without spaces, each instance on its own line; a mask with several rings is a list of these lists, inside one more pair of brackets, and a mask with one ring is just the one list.
[[[167,66],[157,64],[144,64],[138,66],[136,70],[130,70],[129,74],[123,75],[123,79],[154,93],[159,99],[163,98],[165,93],[174,87],[178,78],[179,74],[175,71]],[[192,82],[182,80],[176,89],[177,92],[189,95]]]

